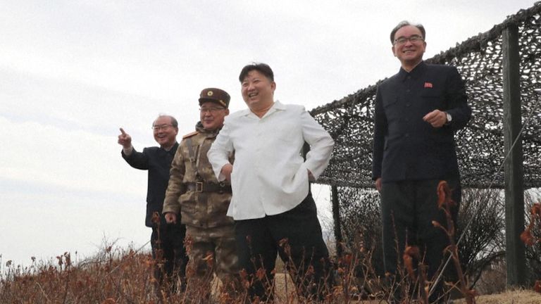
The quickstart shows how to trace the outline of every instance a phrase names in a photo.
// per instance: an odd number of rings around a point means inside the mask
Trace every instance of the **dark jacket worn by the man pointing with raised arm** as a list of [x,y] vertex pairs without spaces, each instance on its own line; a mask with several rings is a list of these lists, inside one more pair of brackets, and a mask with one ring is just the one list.
[[[166,151],[163,148],[154,146],[144,148],[143,152],[133,149],[130,156],[125,156],[124,151],[122,157],[130,164],[140,170],[149,170],[149,180],[147,186],[147,217],[144,224],[147,227],[152,227],[152,214],[157,212],[161,215],[163,200],[166,197],[166,189],[169,182],[169,170],[171,162],[175,157],[178,148],[178,143]],[[180,222],[180,219],[179,221]],[[166,224],[165,217],[161,215],[161,225]]]

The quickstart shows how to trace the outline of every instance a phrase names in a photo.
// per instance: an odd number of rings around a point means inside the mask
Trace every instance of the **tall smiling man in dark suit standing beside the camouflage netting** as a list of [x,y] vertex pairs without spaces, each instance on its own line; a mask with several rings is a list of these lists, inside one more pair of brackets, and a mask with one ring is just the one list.
[[[402,67],[378,87],[373,147],[373,179],[381,194],[385,271],[396,274],[398,256],[406,244],[417,245],[425,253],[430,279],[449,243],[447,235],[432,224],[433,220],[444,226],[447,223],[437,206],[437,184],[447,181],[459,204],[454,132],[468,123],[471,108],[456,68],[423,62],[423,25],[403,21],[394,27],[390,39]],[[455,220],[457,210],[453,211]]]

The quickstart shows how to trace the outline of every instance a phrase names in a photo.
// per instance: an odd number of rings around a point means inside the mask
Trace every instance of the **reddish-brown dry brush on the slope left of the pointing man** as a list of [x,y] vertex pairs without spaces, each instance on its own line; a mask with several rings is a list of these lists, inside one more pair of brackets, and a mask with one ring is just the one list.
[[0,303],[150,303],[152,267],[149,254],[112,246],[76,265],[70,253],[56,263],[32,259],[29,267],[8,261],[0,272]]

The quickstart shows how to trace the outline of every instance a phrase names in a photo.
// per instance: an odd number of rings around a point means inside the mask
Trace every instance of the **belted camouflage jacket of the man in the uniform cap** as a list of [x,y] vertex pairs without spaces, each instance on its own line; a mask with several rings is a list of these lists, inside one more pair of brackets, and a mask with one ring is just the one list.
[[194,182],[218,184],[206,153],[219,130],[214,132],[206,130],[200,122],[196,129],[196,132],[182,137],[175,153],[162,212],[178,215],[180,211],[182,224],[199,228],[233,224],[232,217],[225,215],[231,200],[230,193],[197,192],[188,187]]

